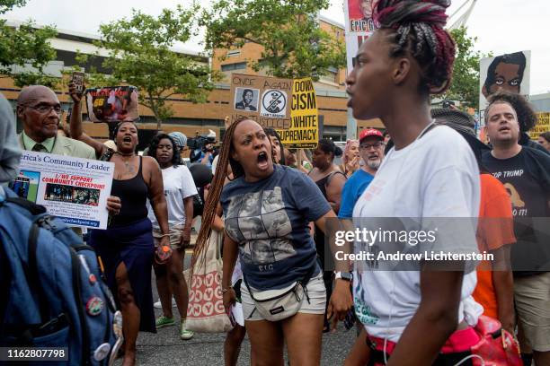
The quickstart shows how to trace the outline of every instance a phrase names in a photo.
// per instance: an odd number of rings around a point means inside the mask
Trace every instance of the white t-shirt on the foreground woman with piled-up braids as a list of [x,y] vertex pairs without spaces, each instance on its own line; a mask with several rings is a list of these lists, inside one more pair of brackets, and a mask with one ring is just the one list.
[[[475,218],[479,201],[474,154],[457,132],[437,126],[404,149],[394,148],[386,155],[375,179],[359,197],[353,220],[361,228],[364,217],[374,221],[380,217]],[[468,244],[463,248],[476,250],[475,223],[470,228],[461,231],[460,240]],[[397,342],[420,305],[420,272],[364,270],[355,273],[353,282],[356,314],[368,334]],[[477,322],[478,315],[472,312],[479,308],[471,297],[475,283],[475,271],[465,274],[457,324],[465,318],[468,323]]]

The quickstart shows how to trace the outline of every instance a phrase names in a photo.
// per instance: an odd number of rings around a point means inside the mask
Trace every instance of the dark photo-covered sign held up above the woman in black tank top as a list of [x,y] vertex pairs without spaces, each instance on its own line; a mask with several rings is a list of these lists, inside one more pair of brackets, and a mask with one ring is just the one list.
[[88,118],[93,122],[135,121],[137,89],[134,86],[106,86],[86,90]]

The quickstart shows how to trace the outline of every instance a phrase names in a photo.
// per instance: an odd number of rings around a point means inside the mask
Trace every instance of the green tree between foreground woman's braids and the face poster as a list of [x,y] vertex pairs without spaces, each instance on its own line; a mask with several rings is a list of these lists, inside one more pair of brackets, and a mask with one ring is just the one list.
[[489,55],[474,50],[477,38],[468,37],[466,27],[451,30],[450,33],[457,43],[457,55],[453,81],[443,98],[460,100],[466,108],[479,109],[479,60]]

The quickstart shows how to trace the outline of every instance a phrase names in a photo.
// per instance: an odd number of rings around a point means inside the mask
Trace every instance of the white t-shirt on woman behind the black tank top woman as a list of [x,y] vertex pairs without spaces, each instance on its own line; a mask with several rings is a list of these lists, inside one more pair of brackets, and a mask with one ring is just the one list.
[[[164,196],[168,206],[168,226],[182,225],[185,223],[185,209],[183,199],[189,196],[197,195],[197,187],[191,176],[191,171],[185,165],[176,165],[163,169]],[[153,227],[159,229],[156,222],[153,207],[147,200],[147,209],[149,210],[149,220],[153,222]]]

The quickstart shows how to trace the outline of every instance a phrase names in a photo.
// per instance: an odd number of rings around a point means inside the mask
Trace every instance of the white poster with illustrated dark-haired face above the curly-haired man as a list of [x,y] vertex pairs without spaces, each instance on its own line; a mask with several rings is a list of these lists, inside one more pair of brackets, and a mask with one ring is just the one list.
[[484,111],[487,98],[493,92],[504,90],[519,93],[528,98],[531,51],[519,51],[480,61],[479,110],[481,126],[484,126]]

